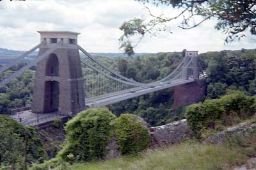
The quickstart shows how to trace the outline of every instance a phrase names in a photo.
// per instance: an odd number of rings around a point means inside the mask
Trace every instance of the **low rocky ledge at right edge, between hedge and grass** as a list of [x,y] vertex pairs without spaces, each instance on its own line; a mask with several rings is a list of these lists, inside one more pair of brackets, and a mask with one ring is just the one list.
[[252,123],[248,125],[248,123],[240,123],[234,127],[227,128],[227,130],[223,130],[216,134],[213,134],[207,137],[204,140],[204,143],[225,143],[228,138],[232,137],[248,137],[252,134],[256,133],[256,123]]

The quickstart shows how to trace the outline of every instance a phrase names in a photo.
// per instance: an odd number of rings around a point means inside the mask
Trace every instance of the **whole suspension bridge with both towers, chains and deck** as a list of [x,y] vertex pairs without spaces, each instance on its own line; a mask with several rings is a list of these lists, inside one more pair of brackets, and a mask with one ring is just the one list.
[[[88,107],[115,104],[200,79],[197,51],[186,51],[184,59],[175,70],[162,79],[143,83],[124,77],[86,52],[77,43],[79,33],[70,31],[38,31],[38,33],[40,33],[38,45],[0,68],[0,73],[3,73],[39,49],[38,56],[0,82],[0,87],[5,86],[31,66],[36,65],[33,112],[76,114]],[[82,58],[81,53],[85,57]]]

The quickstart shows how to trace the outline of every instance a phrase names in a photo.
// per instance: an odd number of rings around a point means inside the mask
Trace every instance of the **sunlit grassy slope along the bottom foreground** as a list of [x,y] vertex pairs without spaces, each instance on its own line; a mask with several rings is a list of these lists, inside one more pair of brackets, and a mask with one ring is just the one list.
[[80,163],[70,166],[76,170],[172,170],[172,169],[232,169],[246,162],[247,151],[243,147],[227,144],[182,143],[148,150],[137,157],[116,158],[102,162]]

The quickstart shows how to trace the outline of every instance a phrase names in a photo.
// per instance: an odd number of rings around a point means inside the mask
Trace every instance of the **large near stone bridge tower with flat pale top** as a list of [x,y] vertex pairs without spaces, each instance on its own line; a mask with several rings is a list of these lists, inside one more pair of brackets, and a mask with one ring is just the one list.
[[70,31],[38,31],[43,54],[57,43],[60,47],[36,65],[34,112],[72,112],[84,109],[83,75],[77,35]]

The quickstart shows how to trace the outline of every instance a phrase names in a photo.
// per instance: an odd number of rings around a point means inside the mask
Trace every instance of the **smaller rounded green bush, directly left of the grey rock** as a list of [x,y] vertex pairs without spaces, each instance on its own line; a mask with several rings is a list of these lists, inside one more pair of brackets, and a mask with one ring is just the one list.
[[115,136],[122,154],[138,153],[149,146],[148,130],[133,114],[121,114],[116,119]]

